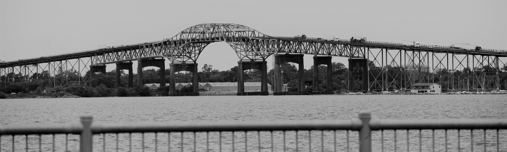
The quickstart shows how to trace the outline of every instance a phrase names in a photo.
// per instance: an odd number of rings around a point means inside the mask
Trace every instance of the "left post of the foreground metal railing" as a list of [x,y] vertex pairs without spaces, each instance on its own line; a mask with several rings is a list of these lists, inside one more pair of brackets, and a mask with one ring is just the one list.
[[83,124],[83,132],[80,136],[80,151],[92,152],[93,150],[93,134],[90,126],[92,125],[93,117],[91,115],[81,116],[81,124]]

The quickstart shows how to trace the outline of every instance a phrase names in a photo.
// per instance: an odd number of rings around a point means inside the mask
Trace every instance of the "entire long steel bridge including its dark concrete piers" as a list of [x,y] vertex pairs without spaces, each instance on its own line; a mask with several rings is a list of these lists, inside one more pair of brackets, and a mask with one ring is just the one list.
[[[213,42],[225,42],[231,46],[239,58],[238,71],[258,69],[262,71],[262,89],[259,95],[267,95],[267,62],[274,56],[274,95],[284,95],[281,91],[280,65],[286,62],[299,64],[298,92],[305,89],[303,73],[303,56],[313,55],[314,67],[328,65],[331,75],[331,58],[346,57],[349,61],[349,91],[354,91],[353,69],[363,70],[363,91],[404,90],[414,83],[435,82],[436,72],[445,69],[447,77],[454,80],[455,72],[466,72],[466,83],[442,84],[448,90],[498,90],[501,87],[500,68],[506,66],[507,51],[494,49],[467,50],[448,46],[421,45],[412,47],[400,43],[322,40],[316,37],[270,36],[253,28],[240,24],[198,24],[180,31],[169,39],[157,42],[133,45],[114,46],[107,49],[96,49],[82,52],[66,53],[30,59],[20,59],[0,63],[2,81],[38,79],[41,71],[53,75],[53,85],[67,83],[87,84],[94,72],[105,73],[106,64],[116,64],[116,86],[120,85],[119,70],[129,70],[129,87],[133,86],[132,62],[138,64],[137,85],[142,86],[142,67],[157,66],[161,77],[165,75],[165,59],[170,62],[170,95],[175,92],[174,72],[193,72],[193,84],[197,84],[197,59],[203,49]],[[174,69],[174,70],[173,70]],[[65,70],[75,70],[80,77],[69,78]],[[314,68],[313,84],[318,84],[318,68]],[[84,75],[87,71],[90,75]],[[11,74],[10,74],[11,73]],[[34,75],[35,78],[30,78]],[[83,76],[83,77],[82,77]],[[59,79],[57,79],[57,77]],[[238,75],[238,95],[246,95],[243,86],[243,75]],[[458,78],[459,79],[459,78]],[[165,79],[160,80],[165,84]],[[333,82],[327,82],[331,93]],[[461,86],[460,86],[461,85]],[[161,86],[163,87],[163,86]],[[314,93],[321,94],[318,85]],[[198,95],[198,86],[194,85],[192,94]],[[250,95],[252,95],[250,93]]]

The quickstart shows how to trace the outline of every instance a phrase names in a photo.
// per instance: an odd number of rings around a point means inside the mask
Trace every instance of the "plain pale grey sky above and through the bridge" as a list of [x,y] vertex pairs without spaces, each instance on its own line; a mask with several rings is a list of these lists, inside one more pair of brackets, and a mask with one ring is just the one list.
[[[237,23],[271,36],[363,36],[368,41],[419,41],[439,46],[467,43],[507,50],[505,0],[0,0],[0,13],[0,59],[6,61],[92,50],[101,45],[160,41],[201,23]],[[344,63],[346,59],[334,57],[333,61]],[[227,70],[237,60],[233,50],[219,42],[208,45],[198,63],[199,69],[211,64]],[[271,68],[271,60],[268,64]],[[306,55],[305,68],[311,64],[311,55]],[[107,70],[114,69],[113,65]]]

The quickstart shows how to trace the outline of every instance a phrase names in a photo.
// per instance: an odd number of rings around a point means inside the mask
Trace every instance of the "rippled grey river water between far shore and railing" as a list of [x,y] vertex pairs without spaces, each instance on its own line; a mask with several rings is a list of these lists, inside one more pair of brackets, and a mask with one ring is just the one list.
[[[360,110],[368,109],[372,111],[372,117],[377,119],[507,119],[507,95],[319,95],[319,96],[195,96],[195,97],[106,97],[106,98],[40,98],[40,99],[2,99],[0,100],[0,124],[18,125],[18,124],[62,124],[79,122],[79,116],[89,114],[94,117],[94,122],[100,123],[141,123],[141,122],[185,122],[185,121],[271,121],[271,120],[347,120],[357,118]],[[440,141],[440,135],[443,131],[435,131],[436,139]],[[476,132],[478,133],[476,135]],[[468,135],[466,135],[468,133]],[[282,132],[273,132],[274,137],[281,137]],[[295,132],[287,132],[286,149],[295,150]],[[315,136],[314,136],[315,134]],[[346,150],[346,131],[337,131],[337,150]],[[357,133],[350,131],[349,148],[354,150],[356,145]],[[432,133],[423,130],[422,143],[423,149],[431,150]],[[500,130],[500,149],[507,150],[507,132]],[[308,131],[298,133],[298,150],[308,151]],[[333,131],[312,131],[312,137],[325,139],[324,151],[334,151]],[[419,139],[419,131],[409,131],[409,140]],[[449,131],[449,136],[456,136],[457,131]],[[474,131],[474,141],[482,140],[483,131]],[[487,140],[482,140],[474,144],[487,150],[496,150],[496,130],[487,130]],[[115,141],[119,138],[120,151],[154,150],[154,133],[146,133],[144,142],[142,134],[131,134],[132,147],[128,147],[129,134],[106,134],[106,136],[95,135],[95,151],[102,151],[102,140]],[[185,141],[183,147],[185,150],[193,150],[193,134],[184,133]],[[236,132],[234,142],[232,142],[232,133],[224,132],[223,151],[232,151],[244,149],[244,133]],[[374,138],[381,137],[381,132],[375,132]],[[393,131],[384,131],[385,140],[384,150],[405,150],[407,149],[407,131],[397,131],[394,136]],[[466,151],[470,149],[470,130],[462,131],[462,137],[459,145]],[[165,138],[163,141],[156,141],[159,150],[167,151],[168,141],[167,133],[158,133],[157,137]],[[181,149],[179,139],[180,133],[171,133],[171,150]],[[258,144],[261,143],[261,151],[270,151],[271,141],[269,132],[261,132],[259,141],[257,132],[248,132],[247,139],[248,151],[257,151]],[[265,139],[265,137],[267,139]],[[397,137],[400,141],[396,144],[393,138]],[[403,138],[405,137],[405,138]],[[43,135],[42,150],[52,150],[51,135]],[[69,135],[68,150],[75,151],[79,148],[79,136]],[[197,133],[196,142],[198,142],[197,151],[205,151],[206,135]],[[210,151],[219,151],[218,133],[209,133]],[[250,139],[251,138],[251,139]],[[402,139],[403,138],[403,139]],[[491,139],[489,139],[491,138]],[[2,136],[0,141],[2,151],[10,151],[12,148],[12,137]],[[213,140],[212,139],[216,139]],[[282,138],[283,139],[283,138]],[[29,151],[39,150],[37,142],[39,137],[29,135]],[[65,135],[56,135],[56,150],[63,151]],[[188,140],[188,141],[187,141]],[[329,141],[328,141],[329,140]],[[24,136],[15,137],[16,149],[24,151]],[[201,143],[204,141],[204,144]],[[305,142],[306,141],[306,142]],[[321,151],[320,143],[322,141],[311,139],[311,151]],[[374,148],[379,150],[378,142],[384,140],[374,139]],[[468,144],[466,142],[468,141]],[[503,141],[503,142],[502,142]],[[72,143],[71,143],[72,142]],[[229,142],[229,143],[227,143]],[[251,143],[250,143],[251,142]],[[283,150],[281,141],[275,140],[275,151]],[[280,143],[281,142],[281,143]],[[328,143],[330,142],[330,143]],[[405,142],[404,145],[399,145]],[[450,143],[456,146],[455,138],[449,139]],[[123,144],[122,144],[123,143]],[[144,148],[141,144],[145,143]],[[236,143],[234,146],[232,143]],[[18,146],[19,144],[19,146]],[[328,145],[329,144],[329,145]],[[414,145],[412,145],[414,144]],[[438,143],[442,144],[442,143]],[[396,145],[396,146],[395,146]],[[411,150],[417,150],[418,142],[410,143]],[[467,147],[468,146],[468,147]],[[476,150],[474,146],[474,150]],[[165,148],[165,149],[164,149]],[[306,148],[306,149],[305,149]],[[315,149],[314,149],[315,148]],[[415,149],[412,149],[415,148]],[[106,151],[115,151],[116,143],[106,142]],[[442,149],[438,147],[436,149]],[[449,149],[453,151],[452,149]],[[17,151],[17,150],[16,150]]]

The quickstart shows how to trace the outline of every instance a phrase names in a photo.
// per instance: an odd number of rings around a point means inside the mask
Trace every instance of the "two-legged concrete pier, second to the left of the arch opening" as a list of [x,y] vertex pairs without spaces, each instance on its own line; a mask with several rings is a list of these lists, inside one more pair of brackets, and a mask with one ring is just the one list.
[[160,87],[165,88],[165,59],[137,59],[137,86],[142,87],[142,68],[155,66],[160,68]]

